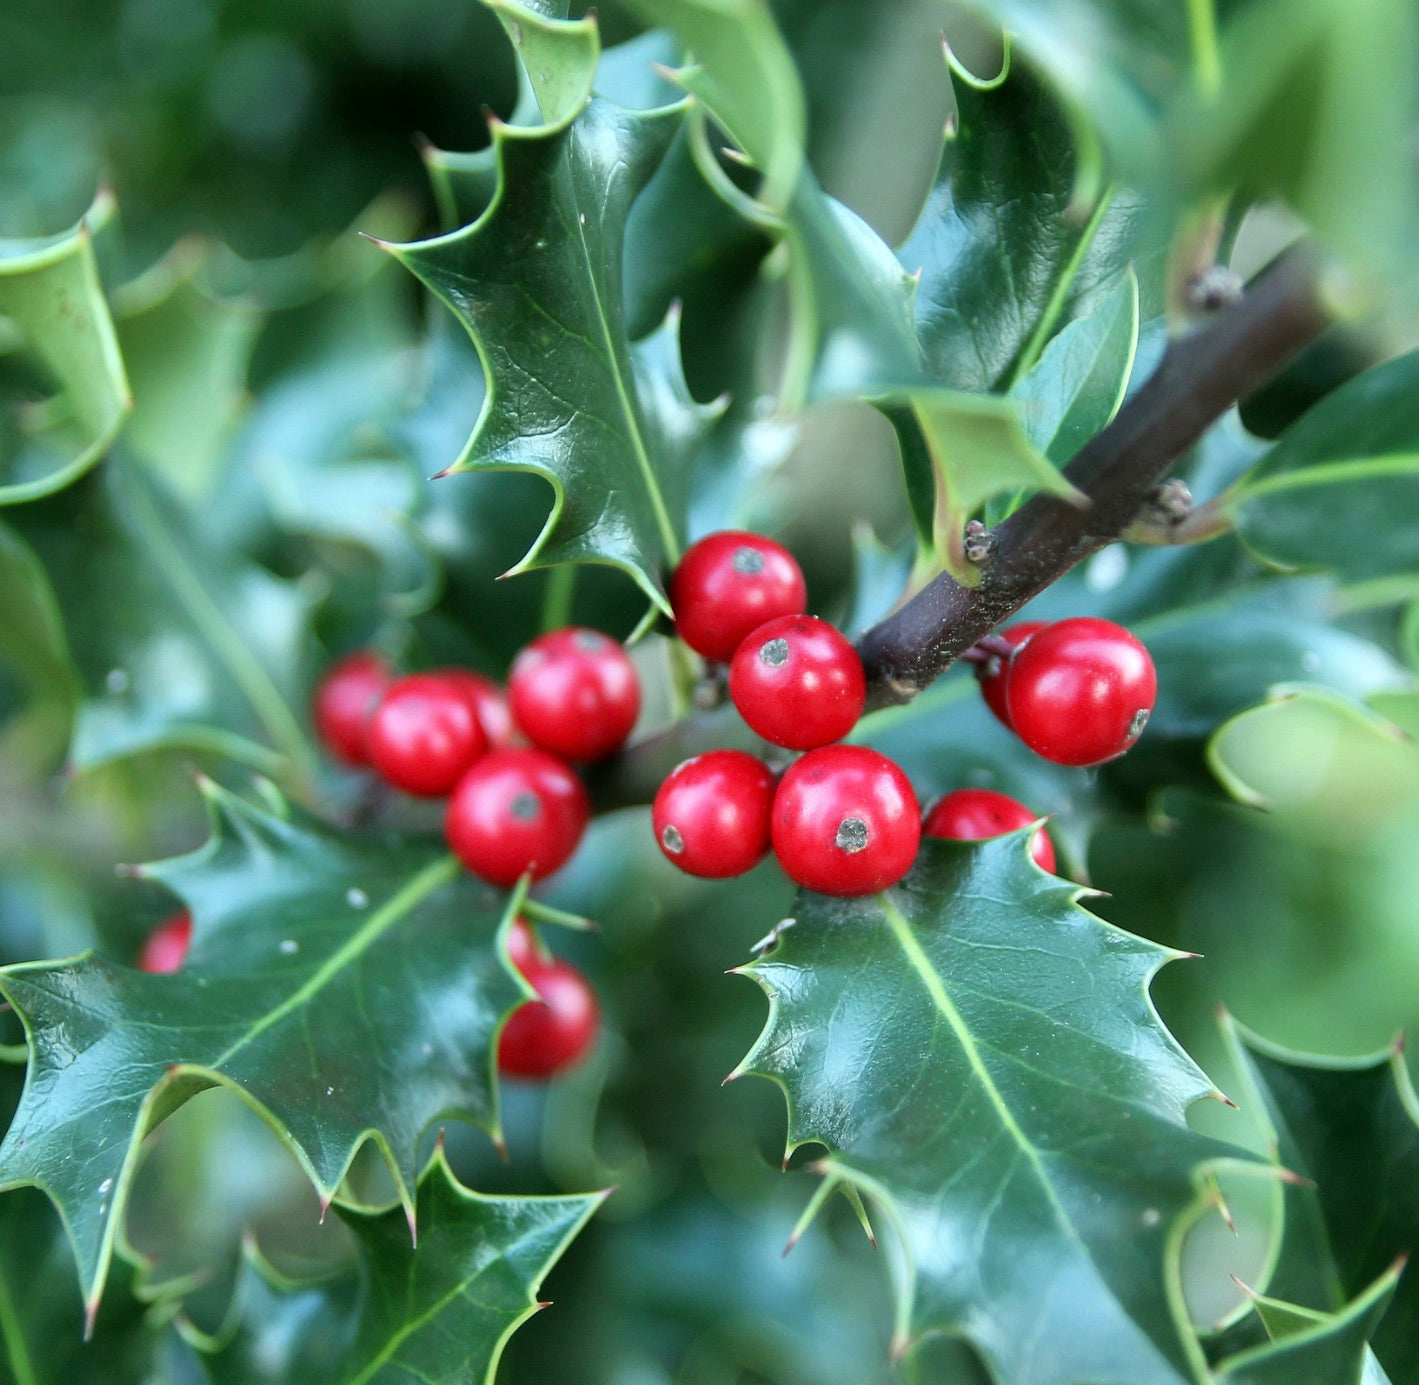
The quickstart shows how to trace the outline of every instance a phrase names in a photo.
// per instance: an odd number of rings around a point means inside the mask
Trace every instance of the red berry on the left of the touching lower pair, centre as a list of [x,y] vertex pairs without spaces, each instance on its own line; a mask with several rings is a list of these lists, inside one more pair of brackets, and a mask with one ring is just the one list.
[[769,853],[773,772],[744,751],[710,751],[671,771],[651,822],[661,851],[690,876],[742,876]]

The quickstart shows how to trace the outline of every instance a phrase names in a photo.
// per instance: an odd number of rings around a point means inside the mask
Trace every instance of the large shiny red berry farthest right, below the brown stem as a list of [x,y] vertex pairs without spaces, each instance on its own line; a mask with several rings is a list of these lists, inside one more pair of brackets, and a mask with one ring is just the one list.
[[1101,765],[1142,734],[1158,695],[1148,650],[1111,620],[1060,620],[1015,656],[1010,725],[1056,765]]

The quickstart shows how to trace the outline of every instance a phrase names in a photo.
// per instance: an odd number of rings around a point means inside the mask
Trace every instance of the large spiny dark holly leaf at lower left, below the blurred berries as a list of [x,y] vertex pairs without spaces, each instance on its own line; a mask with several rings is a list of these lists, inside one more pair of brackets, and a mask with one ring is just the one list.
[[142,1138],[197,1091],[248,1101],[326,1202],[373,1141],[410,1227],[424,1128],[455,1114],[498,1132],[494,1042],[522,993],[492,945],[508,897],[433,843],[203,789],[210,842],[142,868],[193,914],[180,972],[95,954],[0,972],[31,1050],[0,1186],[58,1206],[91,1314]]

